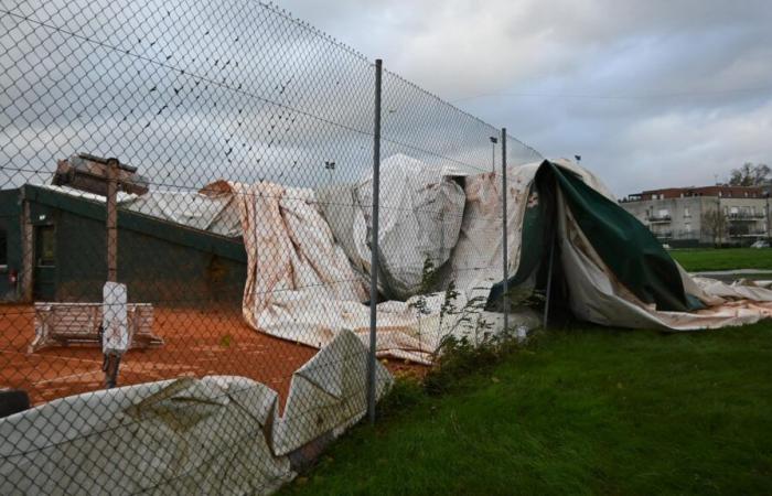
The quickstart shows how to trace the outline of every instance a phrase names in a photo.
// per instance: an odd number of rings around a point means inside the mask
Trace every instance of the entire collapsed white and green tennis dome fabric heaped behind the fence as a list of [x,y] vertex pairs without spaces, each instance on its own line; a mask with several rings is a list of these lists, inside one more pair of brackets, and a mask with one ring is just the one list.
[[[553,298],[579,320],[688,331],[772,315],[770,290],[687,274],[575,163],[508,166],[507,175],[513,325],[538,324],[522,303],[546,290],[550,258]],[[249,325],[315,347],[343,330],[366,342],[371,188],[363,177],[320,191],[268,182],[202,190],[240,213]],[[478,339],[501,331],[501,312],[489,311],[503,288],[501,176],[396,155],[382,164],[382,195],[377,354],[428,364],[448,335]],[[429,288],[426,260],[437,269]]]

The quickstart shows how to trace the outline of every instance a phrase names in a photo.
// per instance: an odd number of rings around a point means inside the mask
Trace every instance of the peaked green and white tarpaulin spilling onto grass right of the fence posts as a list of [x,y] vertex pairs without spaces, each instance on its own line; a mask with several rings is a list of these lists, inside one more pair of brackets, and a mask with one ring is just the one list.
[[[526,217],[537,220],[522,227],[524,239],[544,238],[544,233],[554,239],[558,277],[565,280],[576,317],[622,327],[691,331],[772,316],[772,291],[691,278],[645,226],[600,191],[578,168],[545,161],[530,185],[532,197],[545,202],[532,203]],[[532,249],[548,252],[549,242]],[[538,262],[530,267],[533,272],[545,257],[522,254],[522,260],[534,258]]]

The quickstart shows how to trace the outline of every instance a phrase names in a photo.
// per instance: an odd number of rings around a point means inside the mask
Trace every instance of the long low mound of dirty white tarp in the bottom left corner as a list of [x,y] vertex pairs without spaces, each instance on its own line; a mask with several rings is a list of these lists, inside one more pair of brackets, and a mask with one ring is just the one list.
[[242,377],[128,386],[0,420],[0,494],[266,494],[292,478],[262,434],[277,395]]

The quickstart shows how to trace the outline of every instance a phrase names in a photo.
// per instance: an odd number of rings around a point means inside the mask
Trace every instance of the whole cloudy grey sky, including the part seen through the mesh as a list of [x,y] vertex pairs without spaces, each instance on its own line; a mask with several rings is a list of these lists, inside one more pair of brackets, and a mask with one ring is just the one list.
[[[290,169],[289,179],[298,184],[324,179],[318,171],[323,160],[335,160],[342,173],[354,177],[371,158],[362,133],[372,126],[372,111],[363,103],[372,95],[369,62],[379,56],[387,68],[458,100],[487,122],[506,126],[546,155],[582,154],[618,194],[706,183],[742,161],[772,161],[765,138],[772,131],[772,9],[766,2],[282,2],[364,57],[248,0],[9,3],[31,19],[140,57],[106,55],[105,48],[82,41],[34,48],[40,43],[35,33],[20,28],[14,50],[25,52],[29,63],[47,64],[49,76],[34,76],[24,86],[0,75],[3,98],[43,95],[17,110],[4,107],[11,112],[0,117],[7,119],[0,120],[0,140],[23,132],[28,144],[45,150],[41,159],[78,151],[68,149],[76,144],[101,144],[159,173],[172,168],[169,174],[191,185],[207,179],[191,171],[210,171],[208,179],[214,172],[244,181],[278,179],[294,161],[300,165]],[[7,28],[13,21],[2,22]],[[7,43],[2,35],[0,42]],[[2,57],[0,63],[9,65]],[[84,69],[89,74],[78,86],[73,71]],[[120,84],[111,86],[111,77]],[[205,91],[194,86],[202,80],[210,82]],[[453,112],[400,79],[388,83],[386,152],[420,154],[411,144],[422,143],[430,149],[425,160],[489,163],[486,137],[495,128]],[[221,85],[240,86],[240,93]],[[289,89],[277,95],[285,85]],[[181,86],[191,91],[175,95]],[[152,95],[143,93],[152,87]],[[484,94],[496,95],[469,98]],[[79,96],[82,104],[50,115],[44,107],[55,106],[53,95]],[[163,109],[169,101],[179,108]],[[268,130],[281,105],[300,112],[290,112],[294,128],[269,149]],[[20,118],[23,106],[28,114]],[[126,108],[132,117],[119,123],[115,115],[125,115]],[[248,125],[238,125],[238,110],[246,112]],[[330,115],[345,126],[309,117]],[[229,139],[242,148],[228,153]],[[24,158],[14,151],[2,144],[0,158]],[[528,153],[522,150],[523,157],[535,157]]]

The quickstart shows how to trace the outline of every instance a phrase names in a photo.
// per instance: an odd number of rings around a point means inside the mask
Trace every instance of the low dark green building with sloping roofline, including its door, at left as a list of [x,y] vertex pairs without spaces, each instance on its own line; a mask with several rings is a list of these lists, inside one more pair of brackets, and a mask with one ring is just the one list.
[[[0,301],[99,302],[105,202],[44,186],[0,191]],[[240,308],[247,254],[228,238],[118,208],[118,282],[131,302]]]

